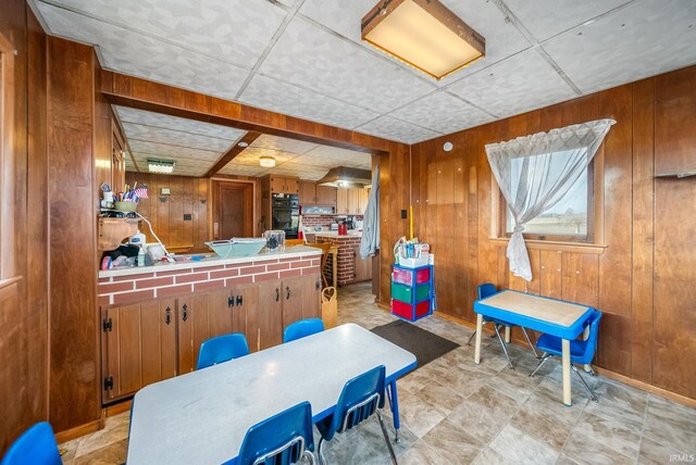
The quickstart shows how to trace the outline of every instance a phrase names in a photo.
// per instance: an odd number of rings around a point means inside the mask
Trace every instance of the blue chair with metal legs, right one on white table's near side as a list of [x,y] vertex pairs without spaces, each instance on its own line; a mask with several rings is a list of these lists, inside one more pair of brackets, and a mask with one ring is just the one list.
[[356,376],[344,386],[334,413],[316,424],[322,438],[319,441],[319,463],[325,464],[324,444],[331,441],[336,432],[346,432],[358,426],[373,414],[377,414],[384,441],[387,443],[391,462],[396,464],[396,454],[389,442],[382,409],[385,394],[385,368],[380,365]]

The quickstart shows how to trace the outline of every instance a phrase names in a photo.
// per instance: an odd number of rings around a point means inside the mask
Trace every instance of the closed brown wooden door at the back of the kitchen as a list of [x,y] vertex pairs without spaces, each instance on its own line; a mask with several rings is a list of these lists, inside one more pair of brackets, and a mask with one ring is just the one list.
[[253,236],[253,184],[213,180],[213,238]]

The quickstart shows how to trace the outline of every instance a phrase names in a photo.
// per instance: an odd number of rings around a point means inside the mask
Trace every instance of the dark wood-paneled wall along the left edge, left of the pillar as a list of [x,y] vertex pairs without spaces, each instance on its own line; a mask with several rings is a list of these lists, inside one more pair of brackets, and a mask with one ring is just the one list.
[[[14,53],[13,131],[0,143],[3,262],[13,276],[0,276],[0,455],[33,423],[48,417],[48,267],[46,158],[46,35],[24,0],[0,0],[0,35]],[[11,146],[5,142],[12,141]],[[29,169],[30,167],[30,169]],[[8,240],[9,237],[13,239]],[[10,259],[7,262],[4,259]],[[3,264],[2,268],[7,271]]]

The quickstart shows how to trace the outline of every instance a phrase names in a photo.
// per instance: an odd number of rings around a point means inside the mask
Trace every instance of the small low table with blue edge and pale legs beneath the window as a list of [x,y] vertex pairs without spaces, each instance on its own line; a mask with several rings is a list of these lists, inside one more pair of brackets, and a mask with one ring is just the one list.
[[561,338],[563,364],[563,403],[571,404],[570,341],[584,331],[584,324],[594,309],[540,296],[502,290],[474,302],[476,316],[476,348],[474,363],[481,362],[483,317],[500,319]]

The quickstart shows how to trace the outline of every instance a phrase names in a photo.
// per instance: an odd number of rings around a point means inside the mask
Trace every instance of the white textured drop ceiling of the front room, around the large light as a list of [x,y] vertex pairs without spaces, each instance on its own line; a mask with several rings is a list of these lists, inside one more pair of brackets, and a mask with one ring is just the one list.
[[440,81],[360,41],[376,0],[30,1],[107,68],[405,143],[696,63],[693,0],[442,0],[486,56]]

